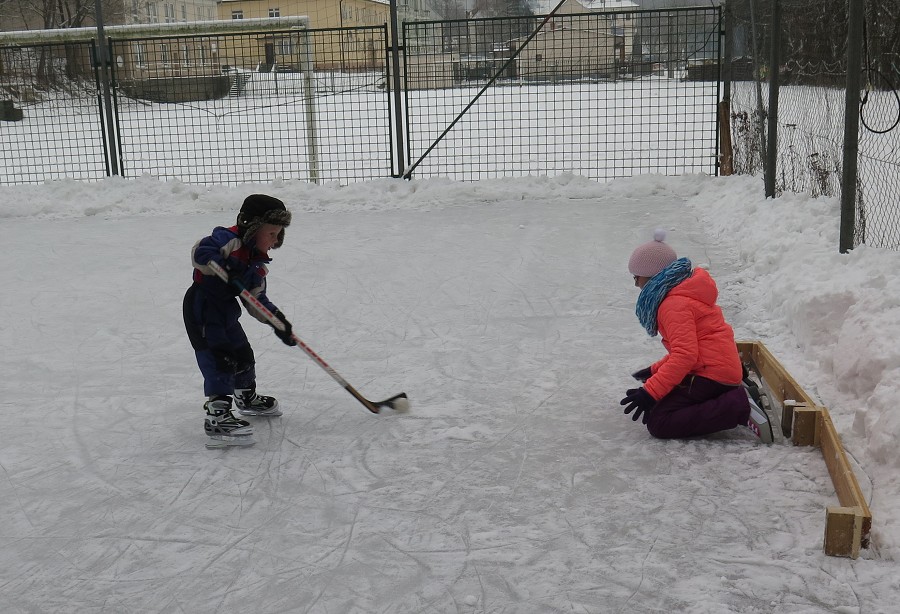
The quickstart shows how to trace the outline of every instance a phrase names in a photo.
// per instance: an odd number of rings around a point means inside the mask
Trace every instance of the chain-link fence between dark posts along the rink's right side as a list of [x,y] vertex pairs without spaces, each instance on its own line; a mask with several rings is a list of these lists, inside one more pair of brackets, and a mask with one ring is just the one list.
[[[865,2],[858,117],[846,113],[848,7],[847,0],[729,3],[734,170],[762,174],[771,164],[776,192],[840,198],[845,131],[858,120],[853,245],[900,249],[900,7]],[[777,140],[767,151],[773,87]]]

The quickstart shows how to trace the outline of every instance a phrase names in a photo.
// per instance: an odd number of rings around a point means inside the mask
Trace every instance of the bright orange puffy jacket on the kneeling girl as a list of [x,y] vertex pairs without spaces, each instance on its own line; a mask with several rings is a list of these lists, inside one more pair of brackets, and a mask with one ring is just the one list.
[[653,363],[644,388],[657,401],[685,376],[702,375],[736,386],[743,371],[734,330],[716,305],[719,290],[704,269],[672,288],[656,312],[657,327],[668,354]]

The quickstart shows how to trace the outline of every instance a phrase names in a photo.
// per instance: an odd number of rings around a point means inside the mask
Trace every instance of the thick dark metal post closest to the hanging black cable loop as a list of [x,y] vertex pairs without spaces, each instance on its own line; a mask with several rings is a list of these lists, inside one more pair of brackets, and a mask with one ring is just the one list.
[[844,162],[841,176],[840,251],[854,248],[856,233],[856,182],[859,156],[859,90],[862,72],[863,0],[848,0],[847,93],[844,101]]

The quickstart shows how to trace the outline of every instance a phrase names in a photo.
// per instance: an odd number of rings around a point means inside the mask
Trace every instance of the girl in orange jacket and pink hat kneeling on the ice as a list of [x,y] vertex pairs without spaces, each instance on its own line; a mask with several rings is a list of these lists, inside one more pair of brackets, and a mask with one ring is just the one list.
[[743,366],[734,331],[716,304],[716,283],[687,258],[677,258],[664,240],[665,232],[657,230],[654,240],[638,246],[628,261],[634,285],[641,289],[638,320],[651,337],[662,335],[668,353],[633,374],[644,385],[626,392],[625,413],[634,411],[633,420],[643,416],[650,434],[662,439],[739,425],[760,436],[757,422],[764,420],[771,441],[765,413],[754,412],[755,421],[750,419]]

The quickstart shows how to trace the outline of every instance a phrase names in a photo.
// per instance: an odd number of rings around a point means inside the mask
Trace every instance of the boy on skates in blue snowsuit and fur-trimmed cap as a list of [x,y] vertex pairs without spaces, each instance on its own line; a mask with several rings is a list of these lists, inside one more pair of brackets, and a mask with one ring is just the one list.
[[[275,334],[287,345],[296,345],[290,322],[266,296],[266,265],[272,260],[268,252],[281,247],[290,223],[291,213],[283,202],[251,194],[241,206],[236,225],[215,228],[191,250],[194,283],[184,295],[184,324],[203,374],[204,394],[209,397],[203,405],[204,430],[212,439],[249,441],[253,434],[250,423],[231,412],[232,395],[243,416],[281,415],[275,398],[256,393],[256,360],[238,321],[243,301],[238,301],[240,290],[230,282],[239,281],[275,314],[285,328],[273,327]],[[228,272],[229,283],[210,269],[210,262]],[[268,323],[252,305],[245,302],[244,308]]]

